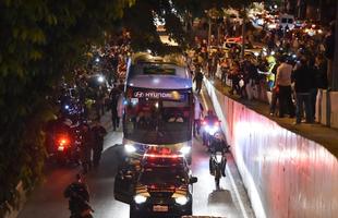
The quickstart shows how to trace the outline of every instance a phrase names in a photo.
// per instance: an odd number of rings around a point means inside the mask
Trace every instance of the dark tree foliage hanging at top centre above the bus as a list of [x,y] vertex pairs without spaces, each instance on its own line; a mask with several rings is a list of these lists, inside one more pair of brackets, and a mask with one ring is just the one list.
[[133,7],[125,9],[125,15],[121,25],[131,32],[134,49],[150,49],[166,52],[168,47],[160,43],[159,36],[156,33],[155,19],[162,21],[169,37],[184,48],[189,43],[191,34],[190,29],[185,28],[186,23],[195,17],[206,16],[207,11],[210,9],[228,7],[242,9],[252,2],[254,1],[138,0]]

